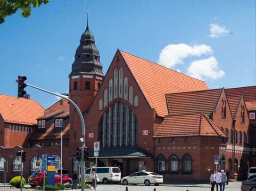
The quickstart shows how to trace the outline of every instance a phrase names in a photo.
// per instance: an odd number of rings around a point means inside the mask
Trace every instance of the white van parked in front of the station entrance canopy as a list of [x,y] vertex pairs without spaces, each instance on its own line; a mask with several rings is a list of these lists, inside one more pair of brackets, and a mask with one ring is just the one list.
[[[95,168],[87,168],[85,170],[85,180],[90,183],[92,180],[92,171],[96,171]],[[118,167],[97,167],[97,176],[99,182],[107,183],[120,183],[121,171]]]

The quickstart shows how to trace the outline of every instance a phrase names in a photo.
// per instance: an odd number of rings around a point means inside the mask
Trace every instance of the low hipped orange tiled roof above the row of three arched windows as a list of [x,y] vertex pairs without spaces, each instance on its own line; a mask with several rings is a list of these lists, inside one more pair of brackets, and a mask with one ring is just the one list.
[[154,138],[184,136],[219,136],[225,133],[205,114],[165,116]]

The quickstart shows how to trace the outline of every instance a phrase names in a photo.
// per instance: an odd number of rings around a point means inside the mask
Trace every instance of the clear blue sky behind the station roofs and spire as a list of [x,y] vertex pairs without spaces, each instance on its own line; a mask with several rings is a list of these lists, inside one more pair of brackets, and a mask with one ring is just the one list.
[[[87,4],[105,73],[119,48],[157,63],[174,56],[178,61],[170,62],[172,69],[197,76],[210,88],[255,85],[255,2],[52,0],[33,9],[29,18],[17,12],[0,25],[0,93],[17,95],[17,75],[50,91],[68,92],[68,74],[86,28]],[[29,87],[26,91],[44,107],[57,100]]]

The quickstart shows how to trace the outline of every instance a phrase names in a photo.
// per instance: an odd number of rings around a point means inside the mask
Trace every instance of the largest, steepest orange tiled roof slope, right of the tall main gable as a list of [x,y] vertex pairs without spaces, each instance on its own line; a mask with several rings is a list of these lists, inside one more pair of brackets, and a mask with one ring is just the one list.
[[156,109],[157,115],[168,115],[165,93],[208,90],[205,82],[165,68],[154,62],[144,60],[120,51],[140,86],[150,107]]

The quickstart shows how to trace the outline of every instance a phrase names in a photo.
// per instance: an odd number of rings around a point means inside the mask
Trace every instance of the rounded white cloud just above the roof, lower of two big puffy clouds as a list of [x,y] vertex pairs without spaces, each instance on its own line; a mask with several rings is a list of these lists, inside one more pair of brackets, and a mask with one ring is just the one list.
[[188,75],[198,79],[219,79],[225,75],[225,72],[219,69],[218,61],[214,56],[203,60],[192,61],[187,71]]

